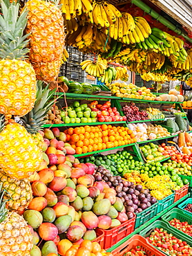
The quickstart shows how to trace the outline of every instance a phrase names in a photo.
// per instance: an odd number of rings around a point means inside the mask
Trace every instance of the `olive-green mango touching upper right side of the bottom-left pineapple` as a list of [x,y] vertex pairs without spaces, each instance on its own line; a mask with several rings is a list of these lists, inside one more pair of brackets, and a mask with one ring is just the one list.
[[26,210],[23,217],[32,228],[39,228],[43,222],[43,216],[37,210]]

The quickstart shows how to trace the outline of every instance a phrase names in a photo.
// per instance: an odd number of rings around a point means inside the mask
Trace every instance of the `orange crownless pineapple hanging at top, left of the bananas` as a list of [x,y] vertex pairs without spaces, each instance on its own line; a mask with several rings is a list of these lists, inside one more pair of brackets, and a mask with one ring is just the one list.
[[64,19],[57,3],[29,0],[28,24],[30,35],[30,62],[35,68],[37,79],[51,82],[59,75],[64,51]]

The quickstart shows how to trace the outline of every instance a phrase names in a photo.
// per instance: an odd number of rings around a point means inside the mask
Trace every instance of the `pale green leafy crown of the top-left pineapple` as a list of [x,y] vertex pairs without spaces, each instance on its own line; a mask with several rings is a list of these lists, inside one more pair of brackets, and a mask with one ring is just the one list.
[[27,24],[28,10],[23,8],[19,16],[19,3],[8,3],[1,0],[0,15],[0,58],[1,59],[26,59],[26,48],[30,34],[23,35]]

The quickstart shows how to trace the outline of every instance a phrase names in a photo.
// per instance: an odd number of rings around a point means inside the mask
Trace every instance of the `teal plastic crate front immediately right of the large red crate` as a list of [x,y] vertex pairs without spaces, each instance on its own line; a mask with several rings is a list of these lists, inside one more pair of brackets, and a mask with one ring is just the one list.
[[146,208],[140,213],[136,213],[135,228],[142,226],[146,221],[157,215],[158,202]]

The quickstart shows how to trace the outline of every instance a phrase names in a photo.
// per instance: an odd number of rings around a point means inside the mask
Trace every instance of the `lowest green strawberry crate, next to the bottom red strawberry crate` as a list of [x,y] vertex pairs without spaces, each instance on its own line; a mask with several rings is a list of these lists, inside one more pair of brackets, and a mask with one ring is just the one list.
[[[151,235],[151,232],[153,232],[153,230],[155,228],[164,228],[164,230],[166,230],[169,234],[174,235],[175,237],[177,237],[178,239],[181,239],[182,241],[186,241],[186,243],[189,244],[189,246],[192,246],[191,237],[189,237],[188,235],[185,235],[183,232],[179,232],[179,230],[177,230],[176,228],[172,228],[169,225],[169,223],[166,223],[164,221],[155,221],[155,222],[151,223],[151,225],[147,226],[146,228],[144,228],[144,230],[142,230],[140,232],[140,235],[142,237],[148,237],[149,235]],[[162,250],[160,250],[160,251],[162,251]],[[164,254],[166,254],[166,253],[164,253]],[[166,255],[168,255],[168,254],[166,254]]]

